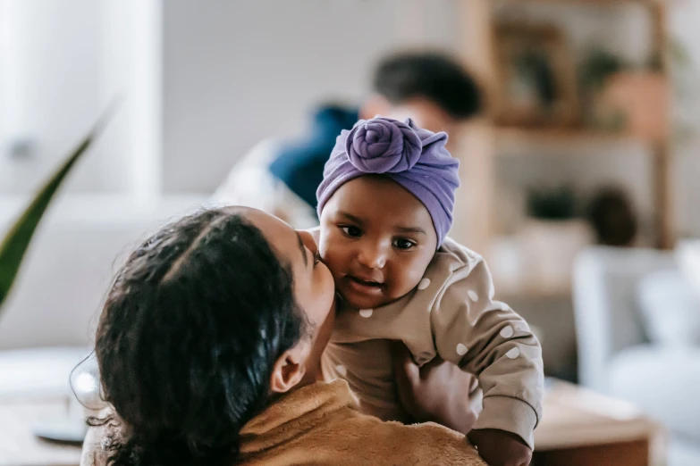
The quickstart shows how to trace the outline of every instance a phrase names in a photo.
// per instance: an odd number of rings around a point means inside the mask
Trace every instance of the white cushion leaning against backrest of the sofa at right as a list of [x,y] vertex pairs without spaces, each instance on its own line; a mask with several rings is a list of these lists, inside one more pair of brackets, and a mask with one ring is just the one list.
[[637,298],[653,343],[700,345],[700,295],[680,270],[651,272],[639,282]]

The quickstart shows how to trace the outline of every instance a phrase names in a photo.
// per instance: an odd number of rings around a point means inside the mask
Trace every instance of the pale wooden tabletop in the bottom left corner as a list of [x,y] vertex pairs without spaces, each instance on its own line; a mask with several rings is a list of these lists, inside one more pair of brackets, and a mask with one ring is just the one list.
[[78,466],[80,445],[62,445],[34,436],[37,420],[63,416],[66,397],[0,401],[0,466]]

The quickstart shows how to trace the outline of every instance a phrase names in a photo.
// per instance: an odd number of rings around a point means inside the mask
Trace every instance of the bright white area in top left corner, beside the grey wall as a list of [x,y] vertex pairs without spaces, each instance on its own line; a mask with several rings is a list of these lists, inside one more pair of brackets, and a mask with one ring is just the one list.
[[[157,186],[160,167],[154,175],[149,162],[159,161],[151,139],[161,139],[159,5],[0,0],[0,195],[33,191],[115,96],[119,112],[66,188],[139,195]],[[13,157],[21,138],[36,150]]]

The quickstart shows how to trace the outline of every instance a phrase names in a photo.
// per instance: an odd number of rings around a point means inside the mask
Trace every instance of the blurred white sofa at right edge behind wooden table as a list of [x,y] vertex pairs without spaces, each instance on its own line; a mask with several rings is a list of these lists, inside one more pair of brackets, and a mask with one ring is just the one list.
[[[669,299],[653,306],[661,313],[652,327],[641,305],[649,279],[671,279],[659,283]],[[670,431],[670,466],[700,464],[700,346],[654,337],[659,327],[678,327],[673,306],[685,285],[674,254],[590,247],[578,256],[573,286],[580,382],[660,420]]]

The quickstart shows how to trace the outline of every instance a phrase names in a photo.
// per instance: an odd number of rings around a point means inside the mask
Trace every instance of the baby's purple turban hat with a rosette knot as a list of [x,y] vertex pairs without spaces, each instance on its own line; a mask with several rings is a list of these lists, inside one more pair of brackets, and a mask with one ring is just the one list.
[[325,162],[324,180],[316,190],[318,217],[333,193],[350,179],[383,174],[426,206],[438,247],[452,226],[454,190],[460,186],[460,162],[445,149],[447,134],[418,128],[413,121],[376,117],[343,129]]

